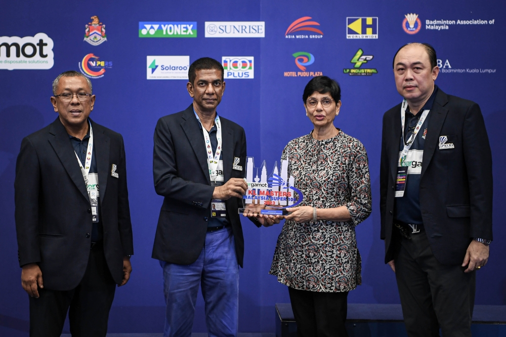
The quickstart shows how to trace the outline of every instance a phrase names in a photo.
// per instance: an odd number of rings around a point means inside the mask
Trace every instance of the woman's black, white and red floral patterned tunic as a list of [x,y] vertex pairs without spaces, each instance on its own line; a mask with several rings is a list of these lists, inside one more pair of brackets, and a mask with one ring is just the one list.
[[367,153],[357,139],[338,135],[316,140],[294,139],[283,150],[288,174],[302,191],[300,206],[332,208],[345,205],[351,221],[285,221],[269,274],[289,287],[336,292],[361,284],[361,258],[355,226],[371,213]]

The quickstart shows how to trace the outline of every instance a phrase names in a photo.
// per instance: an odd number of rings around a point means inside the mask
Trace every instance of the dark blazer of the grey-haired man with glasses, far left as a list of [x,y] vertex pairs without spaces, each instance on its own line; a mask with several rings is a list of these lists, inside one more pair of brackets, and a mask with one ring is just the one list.
[[[123,257],[134,254],[123,138],[91,123],[104,253],[112,278],[119,284]],[[111,176],[112,164],[119,178]],[[59,117],[21,142],[14,190],[19,265],[37,263],[45,288],[75,288],[88,265],[92,216],[85,182]]]

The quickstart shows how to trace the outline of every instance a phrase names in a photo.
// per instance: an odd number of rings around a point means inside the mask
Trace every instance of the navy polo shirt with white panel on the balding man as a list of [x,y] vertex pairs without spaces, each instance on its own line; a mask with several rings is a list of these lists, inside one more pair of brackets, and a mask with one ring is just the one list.
[[[404,141],[407,141],[406,136],[408,133],[408,125],[413,118],[418,120],[424,110],[431,110],[434,105],[434,100],[436,99],[436,94],[438,92],[438,87],[434,86],[434,91],[432,92],[431,97],[425,103],[424,107],[418,111],[416,115],[413,115],[409,111],[409,106],[406,108],[406,121],[404,122],[404,140],[401,138],[399,140],[399,152],[404,149]],[[420,171],[422,165],[422,157],[425,146],[425,138],[428,130],[429,119],[431,113],[427,115],[424,123],[421,125],[418,134],[416,135],[413,144],[409,151],[413,151],[414,153],[418,153],[418,155],[414,155],[411,158],[418,158],[418,160],[412,160],[410,166],[412,167],[412,173],[410,173],[410,169],[408,168],[408,175],[406,180],[406,187],[404,190],[404,196],[395,198],[395,216],[394,219],[398,222],[404,224],[413,224],[413,225],[423,225],[424,222],[421,218],[421,210],[420,210]],[[400,119],[400,118],[399,118]],[[414,165],[414,166],[413,166]],[[418,226],[420,227],[420,226]]]

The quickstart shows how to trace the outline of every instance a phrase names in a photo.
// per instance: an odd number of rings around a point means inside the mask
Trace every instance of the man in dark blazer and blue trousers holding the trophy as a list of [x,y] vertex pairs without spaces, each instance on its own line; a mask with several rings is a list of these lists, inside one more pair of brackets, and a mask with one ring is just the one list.
[[[152,257],[163,269],[164,336],[191,334],[199,284],[209,336],[235,336],[244,256],[238,208],[247,190],[246,136],[216,112],[225,91],[223,66],[198,59],[188,78],[193,103],[160,118],[154,133],[154,185],[164,199]],[[273,217],[252,221],[257,226],[279,223]]]

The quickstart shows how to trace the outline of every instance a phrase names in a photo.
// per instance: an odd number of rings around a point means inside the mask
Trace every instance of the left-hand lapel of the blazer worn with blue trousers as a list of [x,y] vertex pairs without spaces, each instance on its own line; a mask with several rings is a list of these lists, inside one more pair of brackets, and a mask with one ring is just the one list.
[[202,131],[198,126],[198,120],[193,112],[193,105],[190,105],[188,109],[183,112],[183,119],[184,121],[181,123],[181,127],[193,148],[193,152],[195,152],[197,156],[197,160],[207,179],[207,183],[210,185],[211,180],[209,178],[209,168],[207,166],[207,154],[205,152],[204,143],[202,143]]

